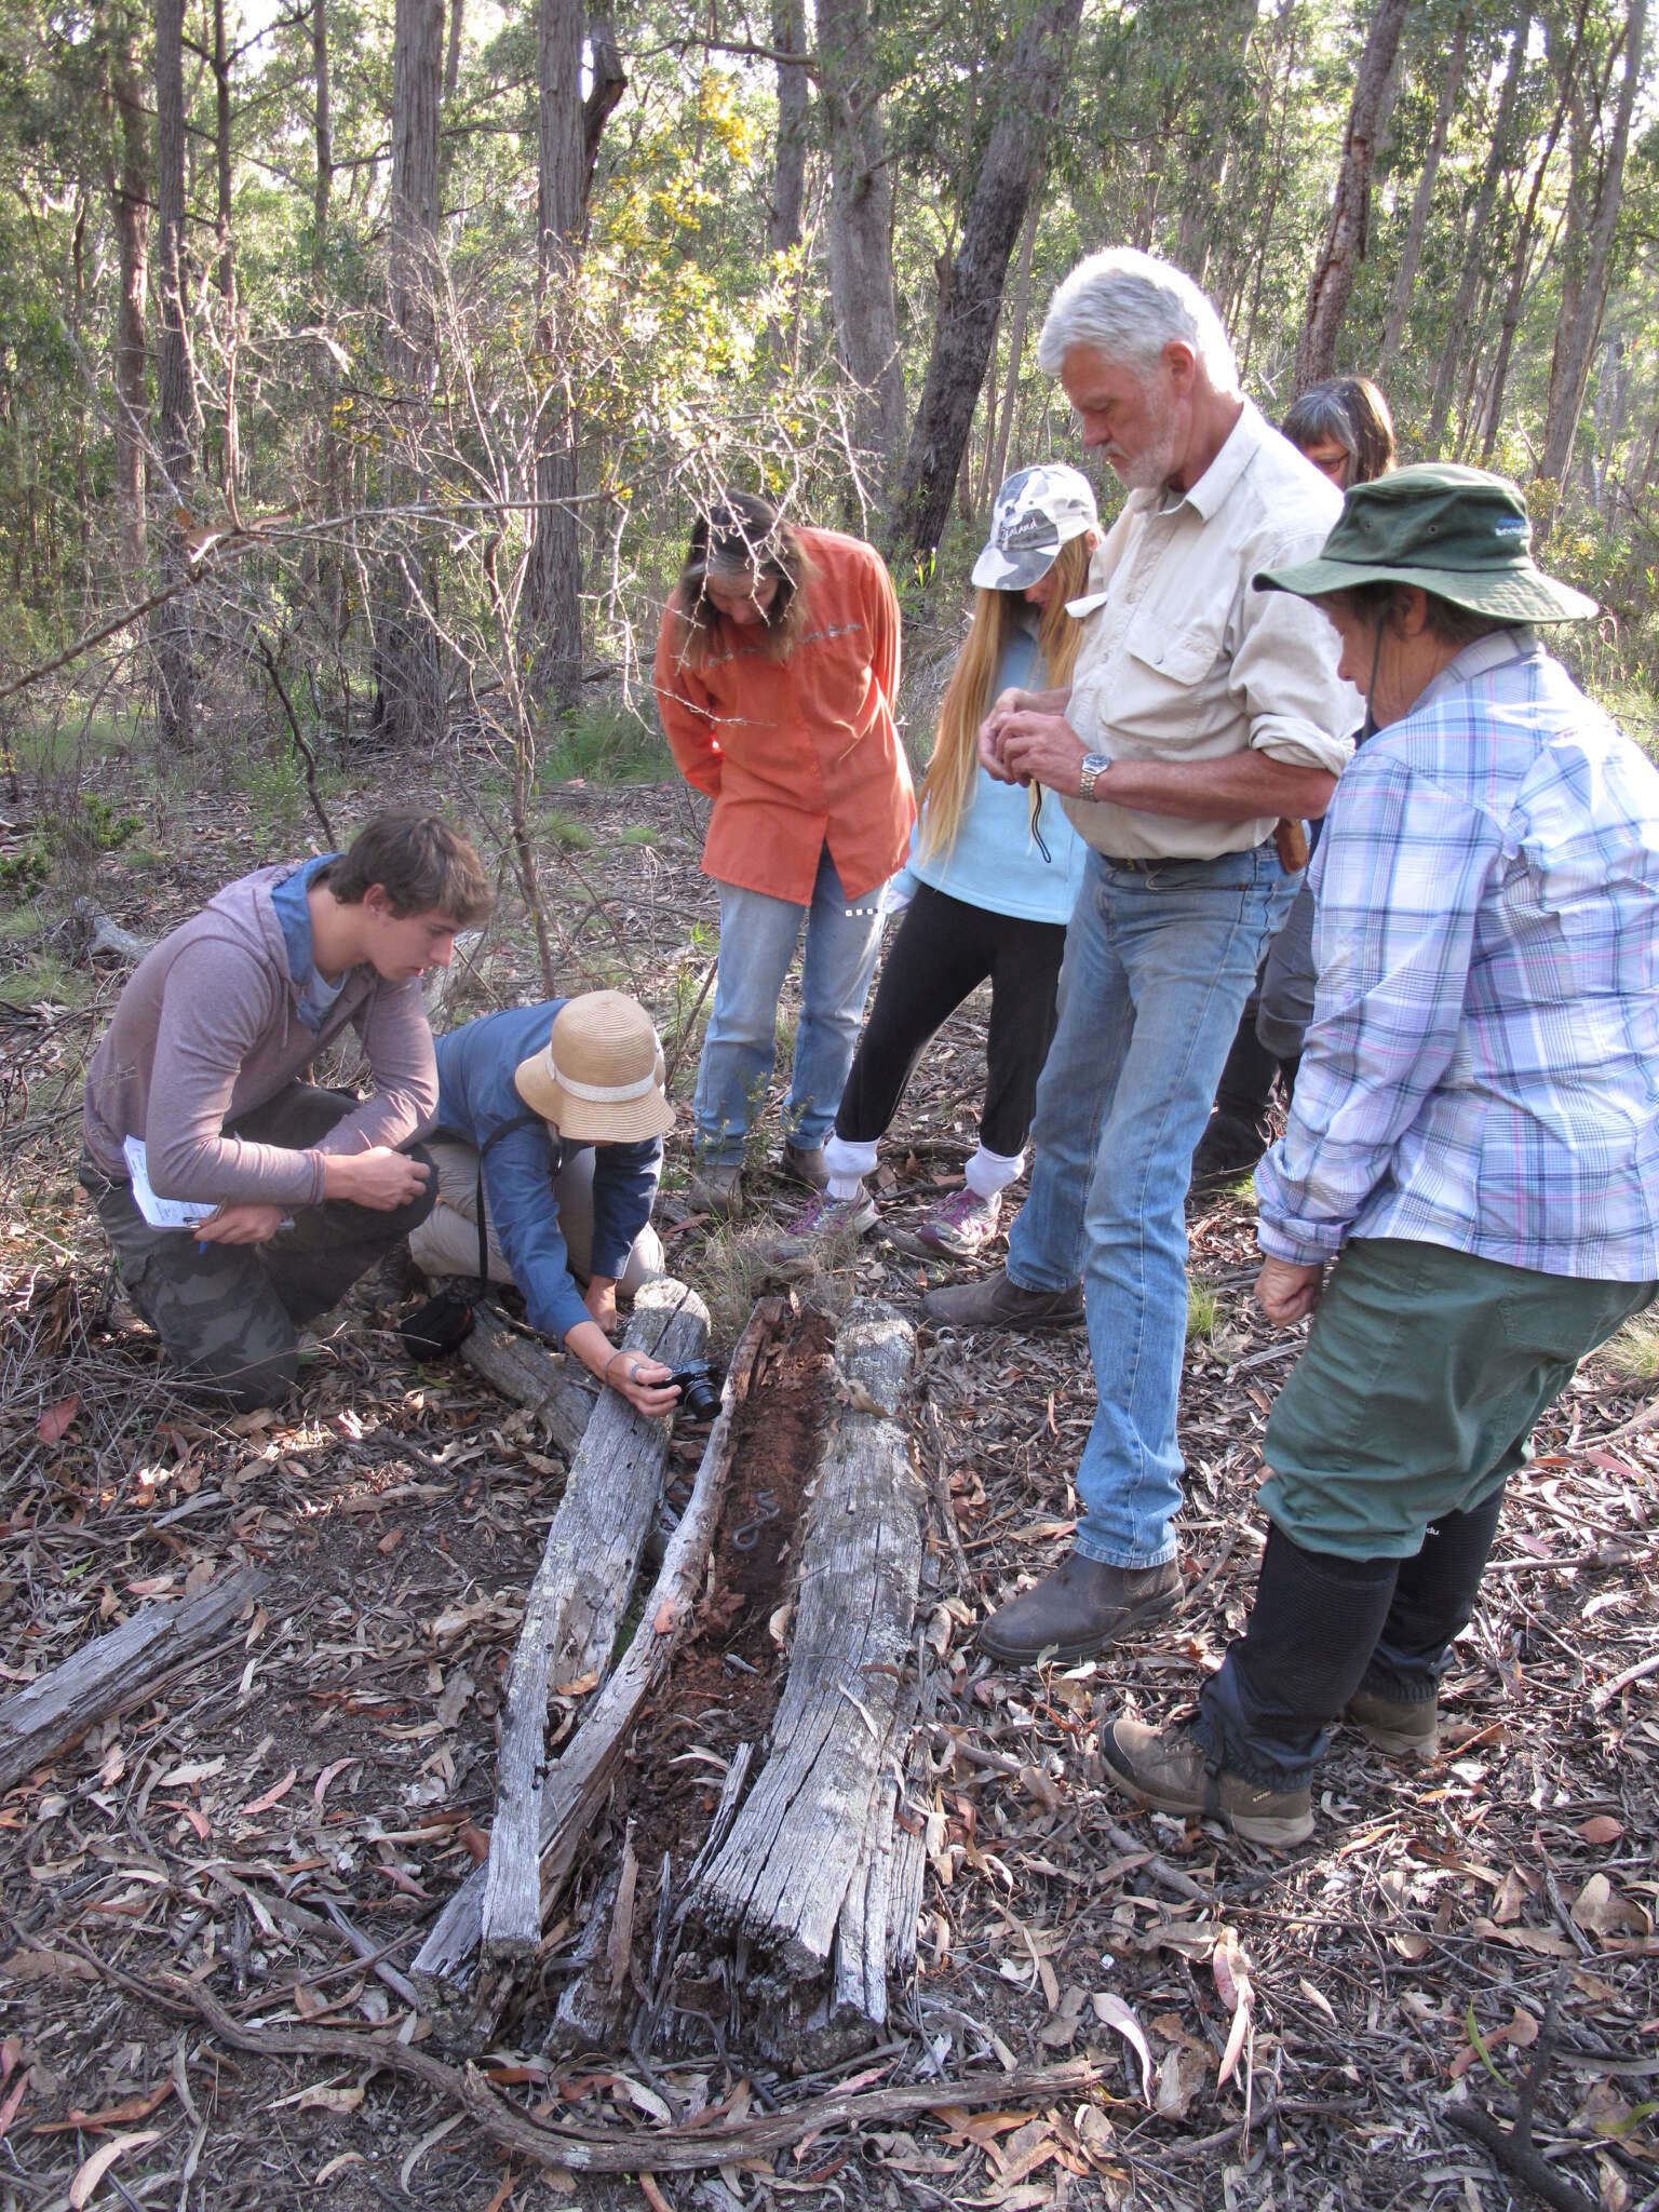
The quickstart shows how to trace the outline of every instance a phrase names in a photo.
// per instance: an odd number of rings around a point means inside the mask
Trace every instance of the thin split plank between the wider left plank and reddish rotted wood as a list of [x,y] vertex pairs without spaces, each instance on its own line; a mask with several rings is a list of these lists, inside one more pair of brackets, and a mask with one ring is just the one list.
[[[781,1298],[763,1298],[754,1307],[732,1352],[719,1416],[708,1431],[690,1500],[668,1537],[639,1628],[549,1770],[540,1812],[542,1916],[557,1898],[582,1840],[606,1801],[639,1708],[661,1683],[692,1619],[726,1498],[737,1413],[783,1312]],[[480,1966],[484,1882],[482,1867],[462,1882],[431,1924],[431,1933],[409,1969],[420,2006],[449,2051],[482,2051],[511,1989],[511,1964],[507,1971]]]

